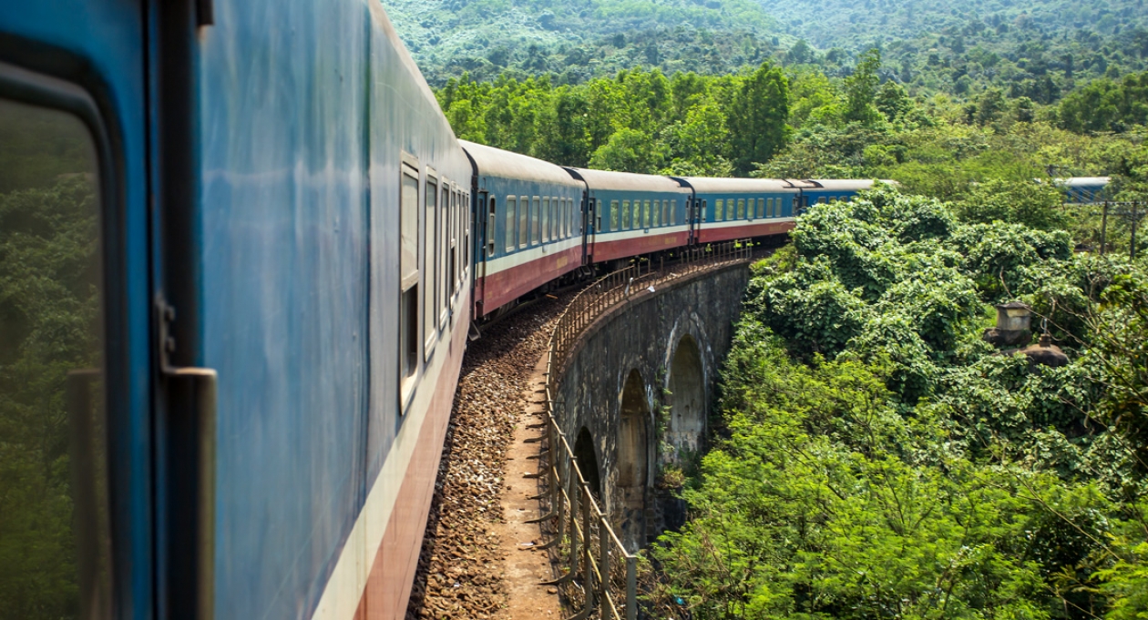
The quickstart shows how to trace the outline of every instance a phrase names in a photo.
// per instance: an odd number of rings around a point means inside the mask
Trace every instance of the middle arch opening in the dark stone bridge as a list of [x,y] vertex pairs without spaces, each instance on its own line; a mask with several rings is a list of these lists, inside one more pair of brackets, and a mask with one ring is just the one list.
[[622,542],[630,550],[641,548],[645,538],[645,490],[649,478],[650,450],[646,420],[645,382],[631,370],[622,388],[618,425],[618,495],[621,512]]

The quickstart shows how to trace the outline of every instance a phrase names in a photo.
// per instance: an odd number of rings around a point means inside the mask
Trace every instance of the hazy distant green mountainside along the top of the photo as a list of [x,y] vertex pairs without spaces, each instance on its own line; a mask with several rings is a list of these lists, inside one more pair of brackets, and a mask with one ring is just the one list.
[[726,73],[768,59],[959,96],[988,86],[1050,102],[1081,80],[1143,70],[1143,0],[383,0],[432,85],[468,72],[581,83],[621,69]]

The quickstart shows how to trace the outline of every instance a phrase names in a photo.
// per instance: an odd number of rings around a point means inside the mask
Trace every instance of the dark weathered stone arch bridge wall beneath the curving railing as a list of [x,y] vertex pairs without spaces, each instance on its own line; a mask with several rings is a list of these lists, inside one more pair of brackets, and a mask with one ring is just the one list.
[[653,287],[638,280],[569,339],[551,378],[553,420],[630,552],[684,522],[661,474],[704,448],[748,278],[736,261]]

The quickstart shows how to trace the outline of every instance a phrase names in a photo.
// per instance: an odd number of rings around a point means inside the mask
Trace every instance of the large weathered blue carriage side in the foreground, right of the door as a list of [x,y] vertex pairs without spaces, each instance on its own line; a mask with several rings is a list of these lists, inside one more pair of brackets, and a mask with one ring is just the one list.
[[216,611],[402,618],[470,324],[472,166],[378,2],[202,37]]

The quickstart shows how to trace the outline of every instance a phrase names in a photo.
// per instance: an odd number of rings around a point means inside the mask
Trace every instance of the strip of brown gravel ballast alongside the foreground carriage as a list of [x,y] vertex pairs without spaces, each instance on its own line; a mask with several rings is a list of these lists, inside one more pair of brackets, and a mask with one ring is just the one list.
[[504,560],[507,548],[518,541],[499,534],[507,451],[515,425],[523,424],[535,366],[576,292],[567,288],[541,297],[528,312],[486,326],[482,338],[470,343],[408,605],[409,620],[510,618]]

